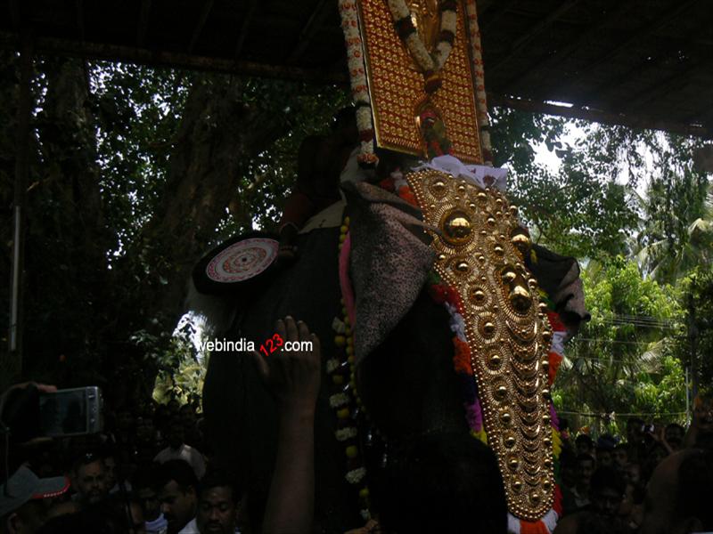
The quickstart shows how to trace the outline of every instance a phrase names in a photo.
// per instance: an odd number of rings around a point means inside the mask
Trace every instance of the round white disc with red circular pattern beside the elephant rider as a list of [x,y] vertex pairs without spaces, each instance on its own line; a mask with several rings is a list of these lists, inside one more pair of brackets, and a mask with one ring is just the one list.
[[214,282],[230,284],[258,276],[275,261],[279,243],[275,239],[243,239],[225,248],[206,267]]

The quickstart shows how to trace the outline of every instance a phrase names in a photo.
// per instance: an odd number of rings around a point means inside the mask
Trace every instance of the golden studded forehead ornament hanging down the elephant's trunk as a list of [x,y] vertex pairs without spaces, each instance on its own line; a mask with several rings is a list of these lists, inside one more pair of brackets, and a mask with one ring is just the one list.
[[552,332],[537,280],[524,263],[529,238],[496,189],[426,169],[406,174],[432,241],[435,269],[463,302],[471,365],[488,444],[510,512],[541,519],[553,505],[547,353]]

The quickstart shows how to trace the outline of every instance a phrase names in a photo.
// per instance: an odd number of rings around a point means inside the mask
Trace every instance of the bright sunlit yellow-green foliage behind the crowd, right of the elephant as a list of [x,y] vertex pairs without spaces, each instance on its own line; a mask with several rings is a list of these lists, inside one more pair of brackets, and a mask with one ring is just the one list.
[[582,280],[592,320],[567,347],[555,382],[558,408],[599,414],[606,425],[617,413],[680,419],[669,415],[685,411],[676,289],[643,279],[621,256],[590,263]]

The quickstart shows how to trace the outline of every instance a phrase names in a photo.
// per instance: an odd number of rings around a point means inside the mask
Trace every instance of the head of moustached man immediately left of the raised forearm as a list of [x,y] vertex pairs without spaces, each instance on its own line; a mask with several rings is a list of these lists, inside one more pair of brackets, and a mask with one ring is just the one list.
[[224,473],[207,473],[199,485],[196,523],[201,534],[233,534],[239,491]]

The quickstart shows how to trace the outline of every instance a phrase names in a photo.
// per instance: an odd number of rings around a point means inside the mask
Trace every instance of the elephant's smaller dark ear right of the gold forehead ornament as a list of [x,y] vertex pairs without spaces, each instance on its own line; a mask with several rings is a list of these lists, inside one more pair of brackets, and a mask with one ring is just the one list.
[[536,259],[529,259],[528,268],[550,296],[567,327],[568,337],[574,336],[581,322],[592,317],[585,307],[579,263],[575,258],[555,254],[539,245],[533,245],[532,249]]

